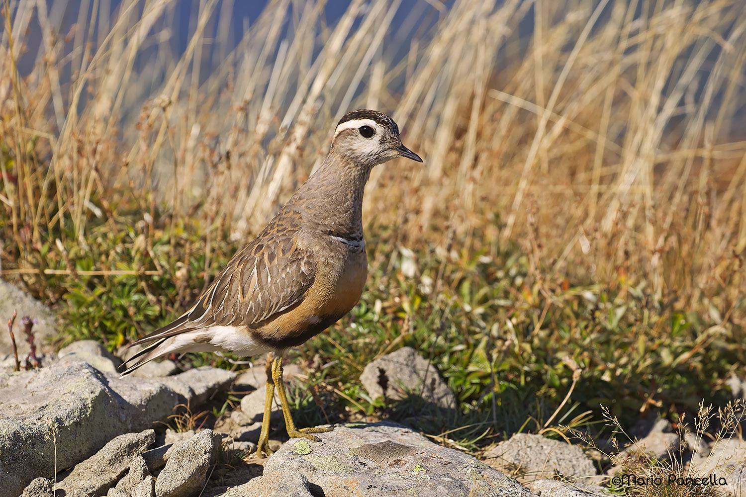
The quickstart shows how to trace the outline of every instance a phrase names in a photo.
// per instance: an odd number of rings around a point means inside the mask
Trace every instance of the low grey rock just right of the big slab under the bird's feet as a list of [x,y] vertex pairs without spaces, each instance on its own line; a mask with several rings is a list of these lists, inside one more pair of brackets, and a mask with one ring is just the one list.
[[485,462],[498,471],[536,480],[562,475],[580,478],[596,474],[591,458],[579,446],[541,435],[516,433],[484,453]]

